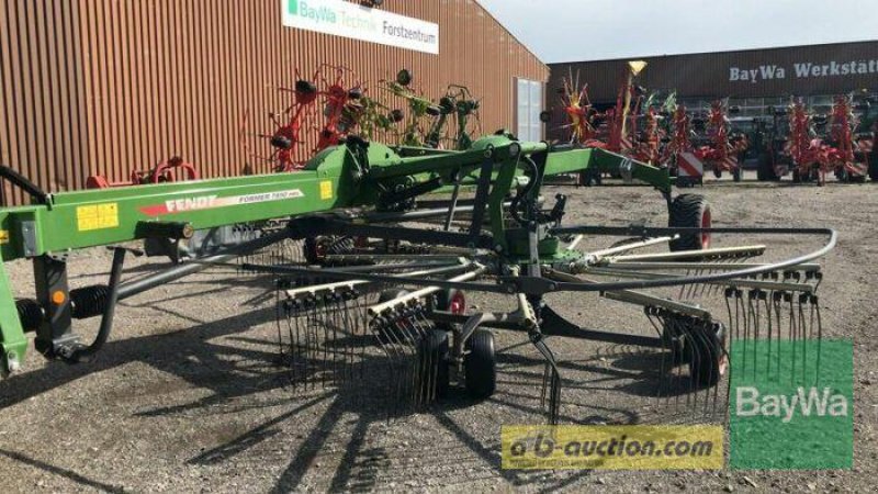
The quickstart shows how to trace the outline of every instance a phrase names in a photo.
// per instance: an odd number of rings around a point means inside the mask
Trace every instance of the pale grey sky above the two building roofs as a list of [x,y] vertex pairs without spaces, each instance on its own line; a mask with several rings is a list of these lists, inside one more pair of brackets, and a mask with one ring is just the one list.
[[876,0],[477,1],[547,63],[878,40]]

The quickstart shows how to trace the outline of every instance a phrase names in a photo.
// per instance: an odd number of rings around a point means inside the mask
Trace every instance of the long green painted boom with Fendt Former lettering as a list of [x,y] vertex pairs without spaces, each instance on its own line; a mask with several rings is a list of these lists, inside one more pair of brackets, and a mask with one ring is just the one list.
[[427,181],[448,187],[455,177],[472,186],[486,160],[492,161],[491,229],[497,245],[506,247],[502,204],[522,183],[522,157],[541,154],[545,154],[549,176],[626,167],[633,178],[665,193],[672,184],[665,170],[619,155],[599,149],[555,150],[544,143],[504,136],[483,138],[465,151],[401,153],[380,144],[339,146],[318,154],[296,173],[66,192],[48,195],[46,204],[0,210],[0,369],[13,369],[26,347],[4,261],[146,238],[150,224],[206,229],[370,207],[378,204],[382,191],[394,187]]

